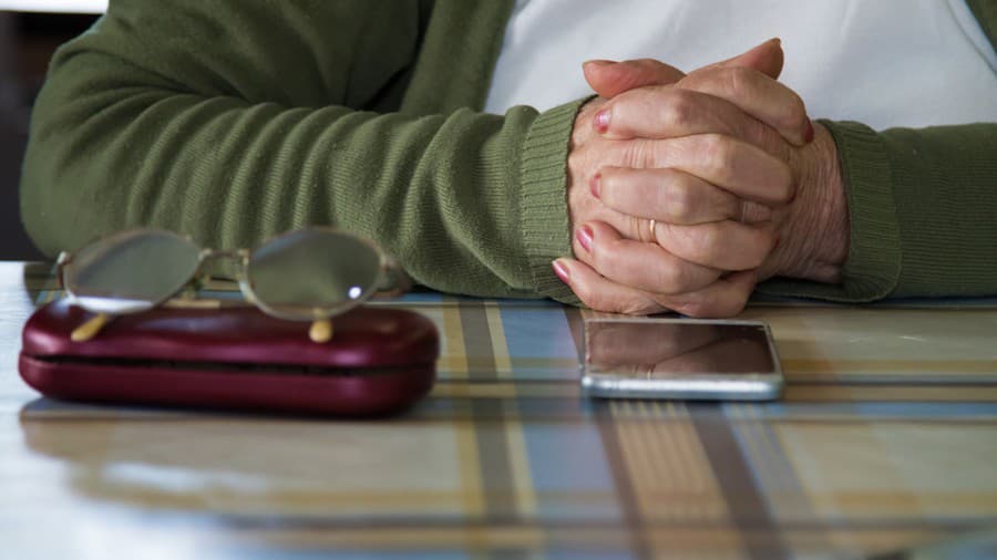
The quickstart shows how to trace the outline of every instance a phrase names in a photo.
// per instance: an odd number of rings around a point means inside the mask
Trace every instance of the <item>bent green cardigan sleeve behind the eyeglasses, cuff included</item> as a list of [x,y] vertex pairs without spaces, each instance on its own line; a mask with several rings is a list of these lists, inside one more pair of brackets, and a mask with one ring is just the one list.
[[56,53],[37,101],[28,231],[53,255],[140,226],[234,248],[333,225],[434,289],[556,295],[549,260],[569,251],[564,169],[579,103],[404,111],[424,11],[112,1]]

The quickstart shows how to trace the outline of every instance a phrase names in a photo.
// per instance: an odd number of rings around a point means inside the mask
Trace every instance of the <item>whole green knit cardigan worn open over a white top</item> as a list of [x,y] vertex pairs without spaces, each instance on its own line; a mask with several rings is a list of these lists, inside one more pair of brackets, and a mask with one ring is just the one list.
[[[993,2],[970,2],[995,37]],[[52,255],[122,228],[218,248],[325,224],[450,292],[577,301],[565,170],[580,101],[481,113],[513,0],[112,0],[52,61],[22,216]],[[997,293],[997,124],[829,123],[849,184],[842,301]]]

